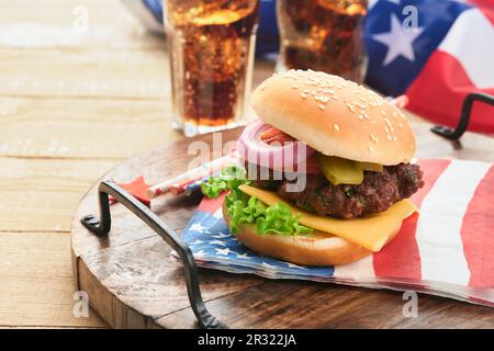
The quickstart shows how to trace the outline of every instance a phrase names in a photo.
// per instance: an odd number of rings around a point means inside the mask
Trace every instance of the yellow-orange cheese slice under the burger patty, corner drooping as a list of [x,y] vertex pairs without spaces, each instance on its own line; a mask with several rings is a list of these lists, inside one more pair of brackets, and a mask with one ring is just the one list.
[[319,216],[291,206],[277,193],[243,184],[239,189],[268,205],[284,202],[293,215],[301,214],[299,222],[307,227],[329,233],[350,242],[378,252],[402,226],[403,219],[418,212],[408,200],[402,200],[384,212],[362,218],[338,219]]

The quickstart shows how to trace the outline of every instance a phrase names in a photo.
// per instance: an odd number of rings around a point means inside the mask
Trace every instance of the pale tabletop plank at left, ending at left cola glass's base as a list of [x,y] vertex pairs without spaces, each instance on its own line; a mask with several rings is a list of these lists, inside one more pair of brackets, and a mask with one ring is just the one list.
[[165,101],[0,98],[0,156],[124,159],[182,137]]

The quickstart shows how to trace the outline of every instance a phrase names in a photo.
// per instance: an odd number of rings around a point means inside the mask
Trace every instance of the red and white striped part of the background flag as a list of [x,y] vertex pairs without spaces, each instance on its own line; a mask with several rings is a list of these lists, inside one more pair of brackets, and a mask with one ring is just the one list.
[[[494,94],[494,7],[472,1],[408,87],[407,109],[431,121],[456,126],[463,99],[471,92]],[[494,132],[494,109],[474,104],[469,128]]]

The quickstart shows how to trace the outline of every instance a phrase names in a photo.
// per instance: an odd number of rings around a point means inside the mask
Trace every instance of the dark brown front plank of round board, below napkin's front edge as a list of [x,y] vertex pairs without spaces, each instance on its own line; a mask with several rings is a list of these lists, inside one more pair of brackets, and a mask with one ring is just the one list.
[[[418,316],[404,317],[402,294],[335,284],[270,281],[206,304],[231,328],[491,328],[492,308],[419,294]],[[475,316],[475,318],[472,318]],[[190,308],[156,320],[197,328]]]

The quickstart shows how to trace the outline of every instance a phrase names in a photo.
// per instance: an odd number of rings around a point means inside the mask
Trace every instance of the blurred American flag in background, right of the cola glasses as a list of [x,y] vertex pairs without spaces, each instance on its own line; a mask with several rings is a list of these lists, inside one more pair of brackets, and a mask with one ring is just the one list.
[[[467,94],[494,94],[493,0],[374,0],[369,9],[371,87],[406,94],[406,109],[449,126],[457,125]],[[411,9],[417,26],[406,30]],[[494,107],[475,105],[469,128],[494,133]]]

